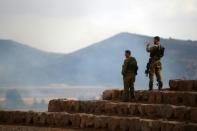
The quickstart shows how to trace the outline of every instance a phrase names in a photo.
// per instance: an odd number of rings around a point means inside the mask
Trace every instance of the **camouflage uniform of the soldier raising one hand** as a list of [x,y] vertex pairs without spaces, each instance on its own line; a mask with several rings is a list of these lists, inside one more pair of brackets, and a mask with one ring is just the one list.
[[146,48],[147,52],[150,53],[149,63],[147,64],[149,68],[148,74],[149,74],[149,79],[150,79],[149,90],[153,89],[154,74],[156,75],[159,89],[161,89],[163,86],[162,77],[161,77],[162,64],[160,61],[160,57],[155,55],[156,52],[158,51],[158,48],[160,48],[160,44]]

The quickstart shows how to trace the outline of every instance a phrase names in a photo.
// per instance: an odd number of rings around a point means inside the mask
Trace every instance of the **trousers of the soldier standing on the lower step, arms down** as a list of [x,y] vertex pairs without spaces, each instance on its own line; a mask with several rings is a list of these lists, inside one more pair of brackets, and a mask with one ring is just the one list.
[[135,75],[124,76],[123,82],[124,82],[123,100],[128,101],[129,99],[134,98]]

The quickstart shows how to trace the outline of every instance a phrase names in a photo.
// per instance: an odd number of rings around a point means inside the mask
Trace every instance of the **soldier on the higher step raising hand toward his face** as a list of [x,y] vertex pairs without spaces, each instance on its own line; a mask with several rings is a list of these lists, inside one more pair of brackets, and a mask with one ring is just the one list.
[[163,86],[162,77],[161,77],[162,65],[160,60],[164,55],[164,50],[165,48],[160,45],[159,36],[154,37],[154,46],[150,47],[150,43],[148,43],[146,46],[146,51],[150,53],[150,59],[147,64],[147,70],[145,71],[145,73],[149,75],[149,90],[153,89],[154,74],[156,75],[157,78],[157,82],[158,82],[157,85],[159,90],[162,89]]

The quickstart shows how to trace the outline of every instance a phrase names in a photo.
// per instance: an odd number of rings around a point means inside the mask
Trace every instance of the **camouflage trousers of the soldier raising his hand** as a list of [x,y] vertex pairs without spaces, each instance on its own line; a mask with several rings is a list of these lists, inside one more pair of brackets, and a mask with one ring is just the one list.
[[152,63],[150,63],[149,89],[153,88],[154,75],[156,76],[159,88],[162,88],[163,83],[162,83],[162,77],[161,77],[161,70],[162,70],[162,65],[160,61],[153,61]]

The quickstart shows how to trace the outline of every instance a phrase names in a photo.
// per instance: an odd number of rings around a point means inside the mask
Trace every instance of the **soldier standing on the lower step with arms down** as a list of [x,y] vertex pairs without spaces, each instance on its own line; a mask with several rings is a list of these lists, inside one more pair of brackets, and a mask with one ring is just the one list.
[[125,60],[122,66],[122,75],[124,82],[123,101],[127,102],[134,98],[134,82],[137,75],[137,61],[131,57],[130,50],[125,51]]

